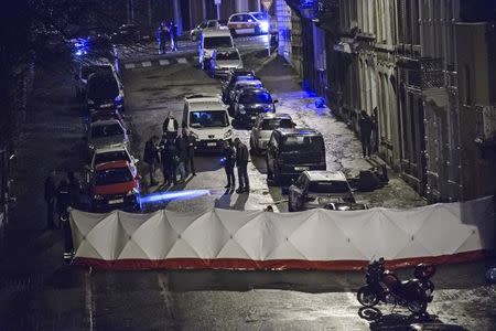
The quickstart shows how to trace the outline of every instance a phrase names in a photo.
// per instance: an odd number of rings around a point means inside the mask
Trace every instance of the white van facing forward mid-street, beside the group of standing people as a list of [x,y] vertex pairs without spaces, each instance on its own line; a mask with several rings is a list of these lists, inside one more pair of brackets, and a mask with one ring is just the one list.
[[219,95],[184,98],[183,122],[196,138],[197,150],[220,151],[233,139],[231,118]]

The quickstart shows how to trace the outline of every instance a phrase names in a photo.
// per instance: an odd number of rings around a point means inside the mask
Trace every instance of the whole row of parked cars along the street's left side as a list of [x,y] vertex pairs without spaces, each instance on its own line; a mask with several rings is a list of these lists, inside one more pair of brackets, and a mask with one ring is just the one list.
[[106,58],[82,61],[75,90],[86,114],[84,186],[91,211],[139,210],[138,159],[129,152],[123,86],[115,66]]

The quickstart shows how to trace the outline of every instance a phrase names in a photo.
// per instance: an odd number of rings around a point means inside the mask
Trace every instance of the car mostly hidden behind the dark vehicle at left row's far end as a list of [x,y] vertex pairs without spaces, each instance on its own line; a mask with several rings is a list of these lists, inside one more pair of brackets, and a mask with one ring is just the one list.
[[111,65],[107,58],[101,57],[94,61],[82,61],[74,75],[77,98],[83,99],[86,96],[89,75],[95,73],[117,76],[118,79],[114,65]]

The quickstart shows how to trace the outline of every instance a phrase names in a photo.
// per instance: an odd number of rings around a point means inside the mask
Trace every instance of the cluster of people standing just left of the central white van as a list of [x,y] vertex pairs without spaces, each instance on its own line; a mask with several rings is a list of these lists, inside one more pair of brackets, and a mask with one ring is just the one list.
[[143,161],[149,167],[150,184],[159,184],[155,180],[157,164],[162,164],[164,185],[183,183],[190,174],[196,175],[196,137],[184,126],[179,132],[177,120],[172,113],[169,113],[162,129],[160,141],[158,136],[152,136],[144,145]]

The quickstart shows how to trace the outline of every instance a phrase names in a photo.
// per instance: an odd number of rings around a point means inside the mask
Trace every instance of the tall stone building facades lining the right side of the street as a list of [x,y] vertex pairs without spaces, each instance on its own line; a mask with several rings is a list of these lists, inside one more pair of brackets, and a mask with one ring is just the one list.
[[[357,131],[360,110],[375,116],[377,154],[421,195],[441,202],[496,192],[488,184],[496,183],[496,78],[479,74],[495,68],[495,1],[287,2],[313,54],[326,57],[323,83],[303,39],[303,82]],[[310,4],[324,42],[304,28]]]

